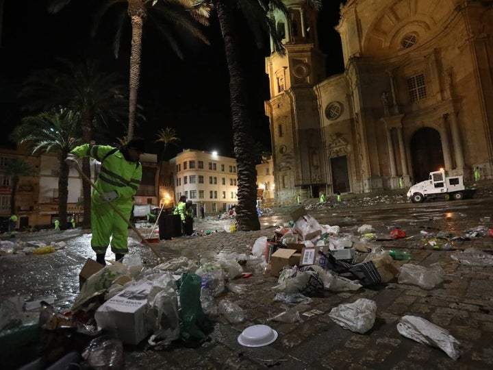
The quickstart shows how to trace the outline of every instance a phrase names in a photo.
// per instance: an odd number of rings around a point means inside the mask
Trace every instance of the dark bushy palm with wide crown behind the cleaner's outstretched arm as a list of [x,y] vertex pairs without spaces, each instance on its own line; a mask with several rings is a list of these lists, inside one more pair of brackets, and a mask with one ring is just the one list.
[[[23,108],[38,114],[56,108],[66,108],[80,117],[83,143],[90,143],[95,128],[105,127],[110,119],[123,121],[127,117],[127,87],[118,73],[99,71],[94,61],[74,63],[60,60],[60,69],[42,69],[31,73],[19,97]],[[125,127],[125,126],[123,126]],[[82,171],[90,178],[89,158],[82,160]],[[83,184],[84,225],[90,227],[90,184]]]

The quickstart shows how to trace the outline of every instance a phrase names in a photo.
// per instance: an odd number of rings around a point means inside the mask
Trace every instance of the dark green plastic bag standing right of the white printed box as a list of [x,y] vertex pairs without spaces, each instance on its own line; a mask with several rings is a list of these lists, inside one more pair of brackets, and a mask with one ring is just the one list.
[[202,310],[200,300],[202,278],[184,273],[177,281],[180,302],[180,338],[187,346],[199,347],[212,331],[213,325]]

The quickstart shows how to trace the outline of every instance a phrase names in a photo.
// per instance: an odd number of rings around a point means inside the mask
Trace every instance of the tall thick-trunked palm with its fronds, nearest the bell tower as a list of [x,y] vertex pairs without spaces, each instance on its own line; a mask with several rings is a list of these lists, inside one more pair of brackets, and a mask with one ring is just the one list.
[[[308,0],[314,8],[321,7],[322,0]],[[240,30],[237,29],[238,16],[242,14],[255,36],[257,43],[262,42],[262,35],[268,34],[273,40],[275,51],[282,55],[286,52],[282,37],[277,32],[270,18],[270,11],[287,13],[282,0],[197,0],[195,6],[207,11],[215,10],[221,34],[225,44],[226,60],[229,71],[229,96],[231,116],[233,119],[233,147],[238,171],[238,206],[236,207],[237,230],[260,230],[257,217],[255,147],[252,136],[252,117],[249,109],[247,80],[240,57]]]

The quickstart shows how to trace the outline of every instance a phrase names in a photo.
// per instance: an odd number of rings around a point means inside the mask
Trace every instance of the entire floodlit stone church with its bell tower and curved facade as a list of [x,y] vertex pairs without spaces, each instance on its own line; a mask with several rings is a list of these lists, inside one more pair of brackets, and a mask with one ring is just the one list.
[[348,0],[330,77],[317,13],[285,3],[286,56],[266,58],[276,201],[492,175],[493,0]]

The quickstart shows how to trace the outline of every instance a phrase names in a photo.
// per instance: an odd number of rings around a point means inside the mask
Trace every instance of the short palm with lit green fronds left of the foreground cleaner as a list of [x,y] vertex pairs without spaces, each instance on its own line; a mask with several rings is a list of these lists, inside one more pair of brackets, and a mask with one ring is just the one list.
[[[56,153],[58,157],[60,175],[58,177],[58,215],[60,220],[67,218],[68,201],[68,173],[70,168],[65,158],[81,139],[79,132],[79,114],[71,110],[42,112],[37,116],[27,116],[22,124],[12,133],[12,138],[18,143],[31,145],[31,152]],[[66,222],[60,223],[60,229],[66,229]]]

